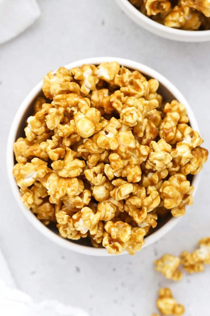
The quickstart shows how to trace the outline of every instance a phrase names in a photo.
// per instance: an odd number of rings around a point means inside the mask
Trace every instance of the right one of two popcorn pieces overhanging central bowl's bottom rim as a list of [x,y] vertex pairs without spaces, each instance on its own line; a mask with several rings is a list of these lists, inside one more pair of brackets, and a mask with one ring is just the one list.
[[126,247],[127,252],[130,255],[134,255],[137,251],[141,250],[144,245],[145,229],[139,227],[131,228],[131,236]]

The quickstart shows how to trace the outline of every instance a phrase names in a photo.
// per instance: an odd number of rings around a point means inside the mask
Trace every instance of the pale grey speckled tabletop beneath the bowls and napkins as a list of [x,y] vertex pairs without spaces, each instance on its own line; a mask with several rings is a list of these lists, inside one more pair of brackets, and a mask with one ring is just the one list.
[[94,56],[130,58],[166,76],[190,103],[210,148],[210,42],[181,43],[148,33],[114,0],[39,0],[41,17],[0,46],[1,221],[0,247],[18,287],[36,300],[58,299],[92,316],[156,312],[160,286],[169,286],[186,316],[208,316],[210,267],[179,283],[155,272],[165,252],[193,250],[210,235],[210,165],[205,164],[193,206],[178,225],[135,256],[97,258],[62,249],[45,239],[23,216],[12,196],[5,151],[10,124],[20,103],[49,70]]

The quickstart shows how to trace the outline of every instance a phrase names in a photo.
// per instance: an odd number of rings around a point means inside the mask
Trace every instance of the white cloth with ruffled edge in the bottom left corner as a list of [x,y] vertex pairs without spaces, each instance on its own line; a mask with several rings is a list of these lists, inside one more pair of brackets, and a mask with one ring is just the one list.
[[80,308],[65,306],[58,301],[33,299],[19,291],[0,249],[0,315],[2,316],[88,316]]

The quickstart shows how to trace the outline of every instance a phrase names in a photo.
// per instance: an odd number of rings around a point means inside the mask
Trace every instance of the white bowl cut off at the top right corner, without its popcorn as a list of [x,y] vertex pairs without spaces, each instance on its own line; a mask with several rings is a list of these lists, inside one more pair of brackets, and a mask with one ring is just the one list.
[[173,27],[167,27],[149,17],[136,9],[128,0],[115,0],[121,9],[134,22],[144,27],[156,35],[165,37],[170,40],[179,40],[182,42],[205,42],[210,40],[210,30],[207,31],[184,31]]

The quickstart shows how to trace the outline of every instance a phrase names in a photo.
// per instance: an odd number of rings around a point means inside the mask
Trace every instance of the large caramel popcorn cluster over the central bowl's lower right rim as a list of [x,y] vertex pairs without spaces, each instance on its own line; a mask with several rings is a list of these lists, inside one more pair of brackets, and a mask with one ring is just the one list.
[[182,216],[185,213],[185,205],[192,205],[192,192],[194,188],[187,181],[186,176],[177,173],[164,181],[160,188],[160,196],[164,207],[171,209],[173,216]]

